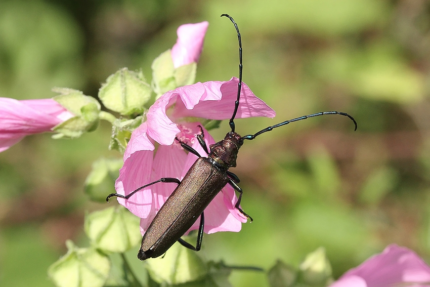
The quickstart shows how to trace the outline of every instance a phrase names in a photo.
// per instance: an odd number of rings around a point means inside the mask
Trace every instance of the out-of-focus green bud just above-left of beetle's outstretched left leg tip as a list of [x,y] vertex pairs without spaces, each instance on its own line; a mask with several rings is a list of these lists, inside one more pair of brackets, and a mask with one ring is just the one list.
[[123,165],[122,158],[99,158],[85,180],[85,193],[94,201],[105,202],[106,196],[115,193],[115,180]]

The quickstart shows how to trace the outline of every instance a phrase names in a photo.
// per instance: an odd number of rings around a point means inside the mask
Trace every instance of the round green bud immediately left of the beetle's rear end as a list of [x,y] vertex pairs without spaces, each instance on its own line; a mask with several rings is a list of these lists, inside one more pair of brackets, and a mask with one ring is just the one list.
[[125,252],[140,243],[139,217],[122,206],[85,216],[84,230],[91,244],[103,252]]

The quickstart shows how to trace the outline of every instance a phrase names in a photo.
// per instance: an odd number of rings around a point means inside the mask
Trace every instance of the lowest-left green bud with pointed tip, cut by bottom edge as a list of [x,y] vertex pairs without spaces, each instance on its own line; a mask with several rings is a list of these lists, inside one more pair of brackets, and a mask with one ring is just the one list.
[[58,287],[102,287],[110,270],[109,258],[94,248],[77,248],[67,240],[67,254],[48,269]]

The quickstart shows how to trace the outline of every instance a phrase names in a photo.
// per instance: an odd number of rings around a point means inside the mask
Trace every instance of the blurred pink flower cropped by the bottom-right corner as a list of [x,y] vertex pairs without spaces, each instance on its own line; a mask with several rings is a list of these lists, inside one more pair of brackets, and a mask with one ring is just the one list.
[[391,244],[330,287],[430,286],[430,267],[415,252]]

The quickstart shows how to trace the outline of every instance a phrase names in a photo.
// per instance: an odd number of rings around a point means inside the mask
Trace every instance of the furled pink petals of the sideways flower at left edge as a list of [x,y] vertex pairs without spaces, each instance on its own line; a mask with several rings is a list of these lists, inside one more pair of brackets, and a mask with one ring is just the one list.
[[53,99],[0,98],[0,152],[27,135],[49,132],[71,117],[73,114]]

